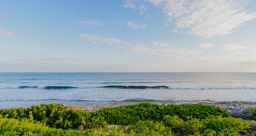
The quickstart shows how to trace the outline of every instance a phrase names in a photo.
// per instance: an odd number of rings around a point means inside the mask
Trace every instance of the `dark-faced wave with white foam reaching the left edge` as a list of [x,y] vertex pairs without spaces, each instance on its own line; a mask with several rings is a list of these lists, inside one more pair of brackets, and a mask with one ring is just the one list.
[[7,87],[0,87],[0,88],[18,88],[18,89],[25,89],[25,88],[72,89],[72,88],[78,88],[78,87],[72,87],[72,86],[7,86]]

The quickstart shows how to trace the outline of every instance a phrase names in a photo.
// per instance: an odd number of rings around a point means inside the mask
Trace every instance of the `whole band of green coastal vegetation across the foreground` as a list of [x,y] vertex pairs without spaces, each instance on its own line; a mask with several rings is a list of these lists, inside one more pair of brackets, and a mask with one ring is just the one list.
[[[108,124],[121,126],[102,129]],[[235,136],[252,135],[251,125],[219,107],[201,104],[141,103],[84,112],[52,103],[0,110],[4,136]]]

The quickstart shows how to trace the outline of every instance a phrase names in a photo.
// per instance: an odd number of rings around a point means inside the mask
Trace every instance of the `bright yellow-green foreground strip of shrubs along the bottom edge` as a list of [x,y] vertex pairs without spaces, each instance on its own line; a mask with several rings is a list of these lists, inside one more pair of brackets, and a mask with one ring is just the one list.
[[[180,125],[173,126],[171,123],[180,122]],[[195,123],[196,122],[196,123]],[[214,123],[213,123],[214,122]],[[252,135],[248,133],[250,122],[243,122],[241,119],[232,117],[222,118],[221,116],[209,117],[206,119],[193,119],[183,121],[177,116],[168,116],[164,121],[139,121],[135,125],[112,127],[108,132],[95,129],[84,131],[62,130],[45,126],[40,122],[34,123],[30,119],[0,119],[0,135],[22,135],[22,136],[240,136]],[[196,127],[195,127],[196,126]],[[194,128],[195,127],[195,128]]]

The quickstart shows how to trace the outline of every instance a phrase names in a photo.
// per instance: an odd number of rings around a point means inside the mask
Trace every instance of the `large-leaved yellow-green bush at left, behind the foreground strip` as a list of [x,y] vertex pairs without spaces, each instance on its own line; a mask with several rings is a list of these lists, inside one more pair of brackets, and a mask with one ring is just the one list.
[[78,126],[83,128],[107,126],[103,117],[91,117],[90,112],[75,111],[56,103],[34,105],[31,108],[1,109],[0,115],[3,118],[34,119],[52,128],[77,129]]

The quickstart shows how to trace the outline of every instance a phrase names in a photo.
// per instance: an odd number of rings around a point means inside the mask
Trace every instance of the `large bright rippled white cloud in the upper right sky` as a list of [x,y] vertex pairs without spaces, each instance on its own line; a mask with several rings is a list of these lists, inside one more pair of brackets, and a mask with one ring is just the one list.
[[[126,0],[126,2],[129,0]],[[162,9],[165,24],[174,23],[183,33],[211,38],[227,35],[256,13],[243,11],[247,0],[144,0]],[[135,4],[130,0],[128,3]]]

